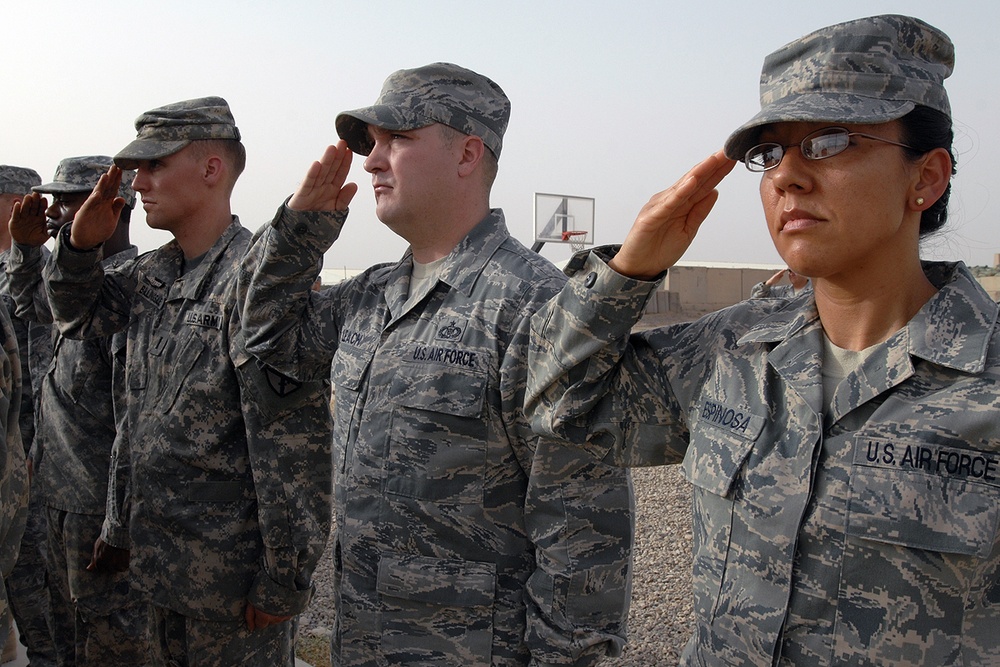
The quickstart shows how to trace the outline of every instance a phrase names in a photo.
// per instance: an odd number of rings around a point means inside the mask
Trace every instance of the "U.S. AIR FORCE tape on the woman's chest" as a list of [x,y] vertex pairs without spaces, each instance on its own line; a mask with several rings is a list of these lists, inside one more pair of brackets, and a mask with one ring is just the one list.
[[880,438],[858,438],[854,462],[992,483],[1000,475],[1000,454]]

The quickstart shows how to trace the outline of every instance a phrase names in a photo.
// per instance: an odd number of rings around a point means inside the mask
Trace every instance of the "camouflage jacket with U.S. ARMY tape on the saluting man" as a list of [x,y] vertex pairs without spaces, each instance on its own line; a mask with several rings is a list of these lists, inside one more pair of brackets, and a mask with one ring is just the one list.
[[323,487],[305,483],[329,474],[328,445],[276,436],[328,433],[328,392],[269,376],[239,344],[233,290],[249,237],[234,218],[184,275],[174,241],[105,273],[97,251],[61,238],[47,268],[64,335],[127,332],[118,446],[130,454],[118,459],[132,467],[133,577],[154,605],[206,621],[240,623],[248,599],[275,615],[304,610],[324,520],[329,530],[329,494],[323,503]]

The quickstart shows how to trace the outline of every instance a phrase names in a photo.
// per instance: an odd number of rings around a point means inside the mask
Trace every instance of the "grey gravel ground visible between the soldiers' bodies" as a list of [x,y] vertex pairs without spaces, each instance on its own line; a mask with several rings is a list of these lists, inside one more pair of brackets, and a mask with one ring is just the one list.
[[[677,318],[647,317],[640,327]],[[633,470],[636,497],[635,567],[629,641],[608,667],[676,665],[691,633],[691,488],[677,466]],[[316,597],[300,618],[300,633],[329,637],[333,627],[329,549],[315,574]]]

